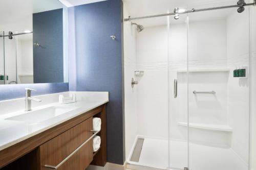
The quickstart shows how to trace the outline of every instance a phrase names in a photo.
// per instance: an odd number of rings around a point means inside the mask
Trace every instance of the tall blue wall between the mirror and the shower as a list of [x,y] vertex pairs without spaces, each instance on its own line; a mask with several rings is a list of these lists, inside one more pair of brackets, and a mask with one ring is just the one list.
[[69,37],[70,91],[110,92],[107,161],[123,164],[122,1],[69,8]]

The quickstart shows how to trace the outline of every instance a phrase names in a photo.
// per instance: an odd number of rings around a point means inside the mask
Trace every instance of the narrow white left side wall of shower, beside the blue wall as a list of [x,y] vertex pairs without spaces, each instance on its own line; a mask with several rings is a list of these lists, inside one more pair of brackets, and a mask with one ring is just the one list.
[[[129,14],[126,11],[124,2],[124,16]],[[136,135],[138,135],[137,115],[137,86],[131,86],[132,78],[135,78],[136,70],[136,30],[130,22],[124,22],[124,120],[125,120],[125,157],[128,158]]]

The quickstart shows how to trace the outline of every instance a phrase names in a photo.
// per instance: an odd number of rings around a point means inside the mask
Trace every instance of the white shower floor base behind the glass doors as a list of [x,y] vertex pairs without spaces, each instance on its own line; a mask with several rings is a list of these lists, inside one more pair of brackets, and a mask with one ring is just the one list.
[[[145,167],[154,167],[158,169],[184,169],[184,167],[188,167],[186,141],[170,140],[170,167],[172,168],[168,168],[168,140],[142,136],[138,136],[138,138],[144,138],[139,162],[127,161],[127,167],[129,167],[129,164],[133,169],[140,166],[144,167],[138,169],[146,169]],[[248,170],[248,164],[246,164],[231,148],[212,147],[190,142],[189,169]]]

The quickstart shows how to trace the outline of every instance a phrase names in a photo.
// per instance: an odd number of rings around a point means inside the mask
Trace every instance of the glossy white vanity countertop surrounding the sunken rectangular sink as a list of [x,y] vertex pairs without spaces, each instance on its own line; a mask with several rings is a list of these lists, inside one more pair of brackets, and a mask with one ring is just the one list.
[[[56,101],[58,99],[59,94],[64,94],[68,96],[70,93],[76,93],[77,102],[70,104],[60,105]],[[28,139],[34,135],[37,135],[41,132],[44,132],[48,129],[51,129],[63,122],[66,122],[69,119],[72,119],[78,115],[81,115],[84,112],[90,111],[98,106],[101,106],[105,103],[109,102],[109,93],[108,92],[65,92],[65,93],[56,93],[49,95],[41,95],[35,96],[38,99],[48,100],[51,103],[42,103],[42,105],[37,104],[37,107],[33,107],[32,102],[32,111],[40,110],[43,108],[48,108],[51,106],[61,106],[61,107],[72,107],[74,110],[69,111],[67,113],[55,116],[51,119],[47,119],[43,122],[38,123],[36,126],[31,128],[25,122],[19,122],[16,120],[6,120],[6,118],[17,116],[20,114],[24,114],[23,110],[17,110],[13,112],[7,112],[6,107],[12,107],[10,110],[13,110],[13,106],[17,104],[17,106],[21,106],[20,103],[25,101],[24,99],[16,99],[9,101],[0,102],[0,151],[4,150],[12,145]],[[5,108],[2,108],[5,107]],[[5,109],[5,112],[1,110]],[[20,109],[20,108],[16,108]],[[27,112],[29,113],[29,112]],[[25,113],[26,114],[26,113]]]

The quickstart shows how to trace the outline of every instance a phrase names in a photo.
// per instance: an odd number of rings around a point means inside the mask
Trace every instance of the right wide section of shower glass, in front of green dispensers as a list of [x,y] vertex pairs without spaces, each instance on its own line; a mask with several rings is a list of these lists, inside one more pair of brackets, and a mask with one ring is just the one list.
[[188,167],[248,170],[249,10],[197,12],[188,18]]

